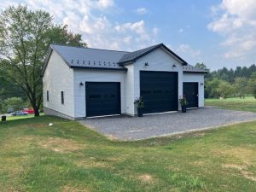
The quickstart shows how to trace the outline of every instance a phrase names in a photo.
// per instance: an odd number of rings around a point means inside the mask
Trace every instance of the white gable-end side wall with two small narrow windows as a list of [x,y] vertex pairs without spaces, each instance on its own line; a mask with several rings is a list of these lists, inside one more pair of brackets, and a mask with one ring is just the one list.
[[[73,69],[53,50],[43,77],[44,107],[74,117]],[[49,91],[49,102],[46,92]],[[64,104],[61,104],[64,91]]]

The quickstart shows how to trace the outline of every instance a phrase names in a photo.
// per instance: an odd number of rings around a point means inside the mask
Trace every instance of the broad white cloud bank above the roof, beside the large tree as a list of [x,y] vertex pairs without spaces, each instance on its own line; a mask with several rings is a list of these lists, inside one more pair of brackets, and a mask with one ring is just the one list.
[[[16,1],[0,2],[4,9]],[[67,24],[69,30],[82,34],[89,47],[101,49],[140,49],[155,44],[157,27],[146,26],[144,20],[116,23],[108,14],[118,9],[114,0],[21,0],[29,9],[44,9],[55,17],[56,23]],[[147,9],[138,9],[140,13]],[[132,44],[132,41],[136,44]]]

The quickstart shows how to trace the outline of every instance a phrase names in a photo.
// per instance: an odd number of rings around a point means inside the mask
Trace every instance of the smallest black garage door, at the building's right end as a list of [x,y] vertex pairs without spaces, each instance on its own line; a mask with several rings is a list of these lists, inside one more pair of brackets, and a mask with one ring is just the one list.
[[189,102],[188,108],[198,108],[198,83],[183,83],[183,96]]

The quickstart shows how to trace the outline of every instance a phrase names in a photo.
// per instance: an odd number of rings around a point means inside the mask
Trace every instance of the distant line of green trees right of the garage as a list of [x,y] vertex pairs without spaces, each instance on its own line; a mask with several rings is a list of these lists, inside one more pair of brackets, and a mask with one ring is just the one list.
[[253,95],[256,98],[256,66],[236,67],[218,69],[210,71],[204,63],[197,63],[200,67],[208,71],[205,76],[205,97],[218,98],[239,96],[244,98]]

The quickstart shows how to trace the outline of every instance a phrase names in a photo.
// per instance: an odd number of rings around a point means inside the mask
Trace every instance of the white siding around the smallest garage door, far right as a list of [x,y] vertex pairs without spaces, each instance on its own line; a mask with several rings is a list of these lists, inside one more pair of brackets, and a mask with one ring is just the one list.
[[204,74],[202,73],[183,73],[183,82],[198,82],[198,107],[202,108],[205,105],[205,84]]

